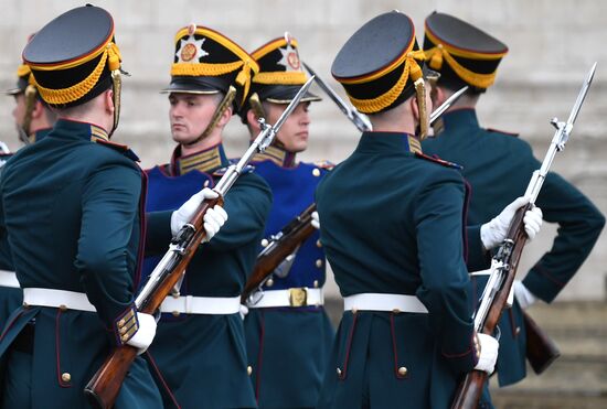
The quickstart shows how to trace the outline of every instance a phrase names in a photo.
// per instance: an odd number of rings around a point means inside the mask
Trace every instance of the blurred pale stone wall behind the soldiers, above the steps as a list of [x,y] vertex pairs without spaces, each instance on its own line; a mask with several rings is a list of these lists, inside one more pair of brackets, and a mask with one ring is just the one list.
[[[26,36],[53,17],[81,6],[74,0],[0,0],[0,89],[14,82],[14,72]],[[400,9],[418,26],[433,10],[468,20],[508,43],[510,53],[500,66],[497,85],[482,99],[481,122],[521,132],[536,155],[543,158],[553,128],[550,118],[566,119],[578,87],[594,61],[595,83],[578,118],[571,143],[554,169],[586,193],[607,213],[607,2],[598,0],[171,0],[97,1],[115,17],[124,67],[124,110],[116,139],[130,144],[142,165],[166,161],[169,137],[168,104],[158,93],[169,80],[173,35],[190,22],[211,26],[246,50],[254,50],[288,30],[299,40],[301,57],[334,86],[330,65],[344,41],[374,15]],[[19,148],[12,125],[13,104],[0,98],[0,136]],[[302,158],[339,162],[354,148],[358,132],[330,101],[312,107],[312,143]],[[246,144],[245,129],[231,123],[227,149],[237,155]],[[546,228],[525,251],[531,266],[550,248],[555,228]],[[560,299],[605,299],[607,237],[603,235],[588,261]]]

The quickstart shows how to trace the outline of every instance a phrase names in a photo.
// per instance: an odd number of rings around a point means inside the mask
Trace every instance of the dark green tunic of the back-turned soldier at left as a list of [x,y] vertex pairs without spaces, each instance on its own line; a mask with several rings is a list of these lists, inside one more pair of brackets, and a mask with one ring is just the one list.
[[[121,343],[117,322],[132,312],[138,286],[141,172],[132,152],[104,137],[90,123],[60,120],[4,166],[0,225],[22,288],[86,293],[97,311],[24,305],[11,315],[0,335],[0,356],[9,358],[6,384],[23,374],[31,374],[31,384],[17,384],[30,389],[18,394],[24,400],[4,396],[4,405],[87,407],[84,386]],[[142,358],[135,359],[115,407],[161,407]]]

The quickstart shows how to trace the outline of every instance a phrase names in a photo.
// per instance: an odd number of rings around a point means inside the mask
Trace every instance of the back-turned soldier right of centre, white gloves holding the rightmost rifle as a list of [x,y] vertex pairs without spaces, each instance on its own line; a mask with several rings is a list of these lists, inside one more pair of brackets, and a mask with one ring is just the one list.
[[[481,255],[507,227],[490,222],[490,240],[482,227],[466,234],[458,166],[422,153],[432,109],[423,61],[411,19],[393,11],[359,29],[331,68],[373,132],[316,193],[344,297],[318,408],[446,408],[464,373],[491,373],[497,358],[498,342],[473,330],[465,255]],[[524,203],[498,218],[508,225]],[[537,212],[525,218],[533,236]]]

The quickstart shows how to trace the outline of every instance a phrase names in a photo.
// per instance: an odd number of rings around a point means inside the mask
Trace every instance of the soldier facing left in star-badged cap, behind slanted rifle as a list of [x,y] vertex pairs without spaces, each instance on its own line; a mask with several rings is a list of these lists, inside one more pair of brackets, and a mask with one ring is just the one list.
[[[257,63],[236,43],[205,26],[175,35],[169,118],[178,143],[170,163],[149,170],[148,211],[179,207],[201,186],[212,187],[228,165],[224,127],[244,103]],[[200,248],[187,269],[181,294],[161,308],[150,347],[166,407],[255,407],[247,369],[239,294],[257,256],[271,192],[264,180],[245,173],[225,196],[230,220]],[[183,205],[188,206],[188,202]],[[156,229],[155,224],[148,228]],[[147,244],[148,270],[170,237]]]

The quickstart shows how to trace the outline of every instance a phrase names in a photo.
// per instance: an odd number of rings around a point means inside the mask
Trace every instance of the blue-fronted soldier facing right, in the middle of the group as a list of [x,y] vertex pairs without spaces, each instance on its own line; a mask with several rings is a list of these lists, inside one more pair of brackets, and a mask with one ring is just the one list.
[[[297,40],[288,33],[252,55],[259,73],[253,77],[252,96],[241,116],[254,138],[258,118],[275,123],[307,77]],[[308,147],[308,109],[316,100],[320,98],[305,95],[274,143],[254,158],[255,173],[269,183],[274,195],[266,241],[313,203],[316,186],[329,168],[296,160]],[[263,293],[247,303],[247,353],[259,408],[316,407],[333,341],[322,306],[326,260],[318,233],[291,256],[266,281]]]

